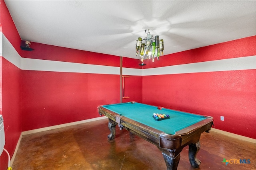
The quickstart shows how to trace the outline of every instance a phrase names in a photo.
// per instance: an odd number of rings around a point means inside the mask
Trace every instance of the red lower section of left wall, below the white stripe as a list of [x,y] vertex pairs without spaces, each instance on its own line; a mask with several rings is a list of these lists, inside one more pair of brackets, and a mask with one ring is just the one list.
[[[5,146],[10,156],[13,155],[21,128],[21,70],[2,58],[2,115],[4,117]],[[4,152],[2,155],[6,155]],[[7,167],[8,157],[2,160]]]

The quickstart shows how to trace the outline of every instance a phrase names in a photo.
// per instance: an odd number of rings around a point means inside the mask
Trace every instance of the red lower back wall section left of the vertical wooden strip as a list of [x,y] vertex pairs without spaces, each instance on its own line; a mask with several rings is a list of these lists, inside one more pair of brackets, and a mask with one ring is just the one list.
[[22,131],[99,117],[119,102],[119,75],[22,70]]

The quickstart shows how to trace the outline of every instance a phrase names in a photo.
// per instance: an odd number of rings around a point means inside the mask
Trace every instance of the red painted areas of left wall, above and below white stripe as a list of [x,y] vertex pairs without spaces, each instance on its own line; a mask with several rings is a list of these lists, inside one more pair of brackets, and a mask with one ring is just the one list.
[[[0,25],[2,34],[12,43],[20,53],[20,36],[3,0],[0,1]],[[2,42],[2,40],[1,40]],[[1,44],[2,45],[2,44]],[[2,54],[4,53],[2,49]],[[1,57],[2,70],[2,112],[4,118],[5,146],[12,157],[21,129],[21,70]],[[8,167],[8,156],[5,152],[0,157],[0,169]]]

